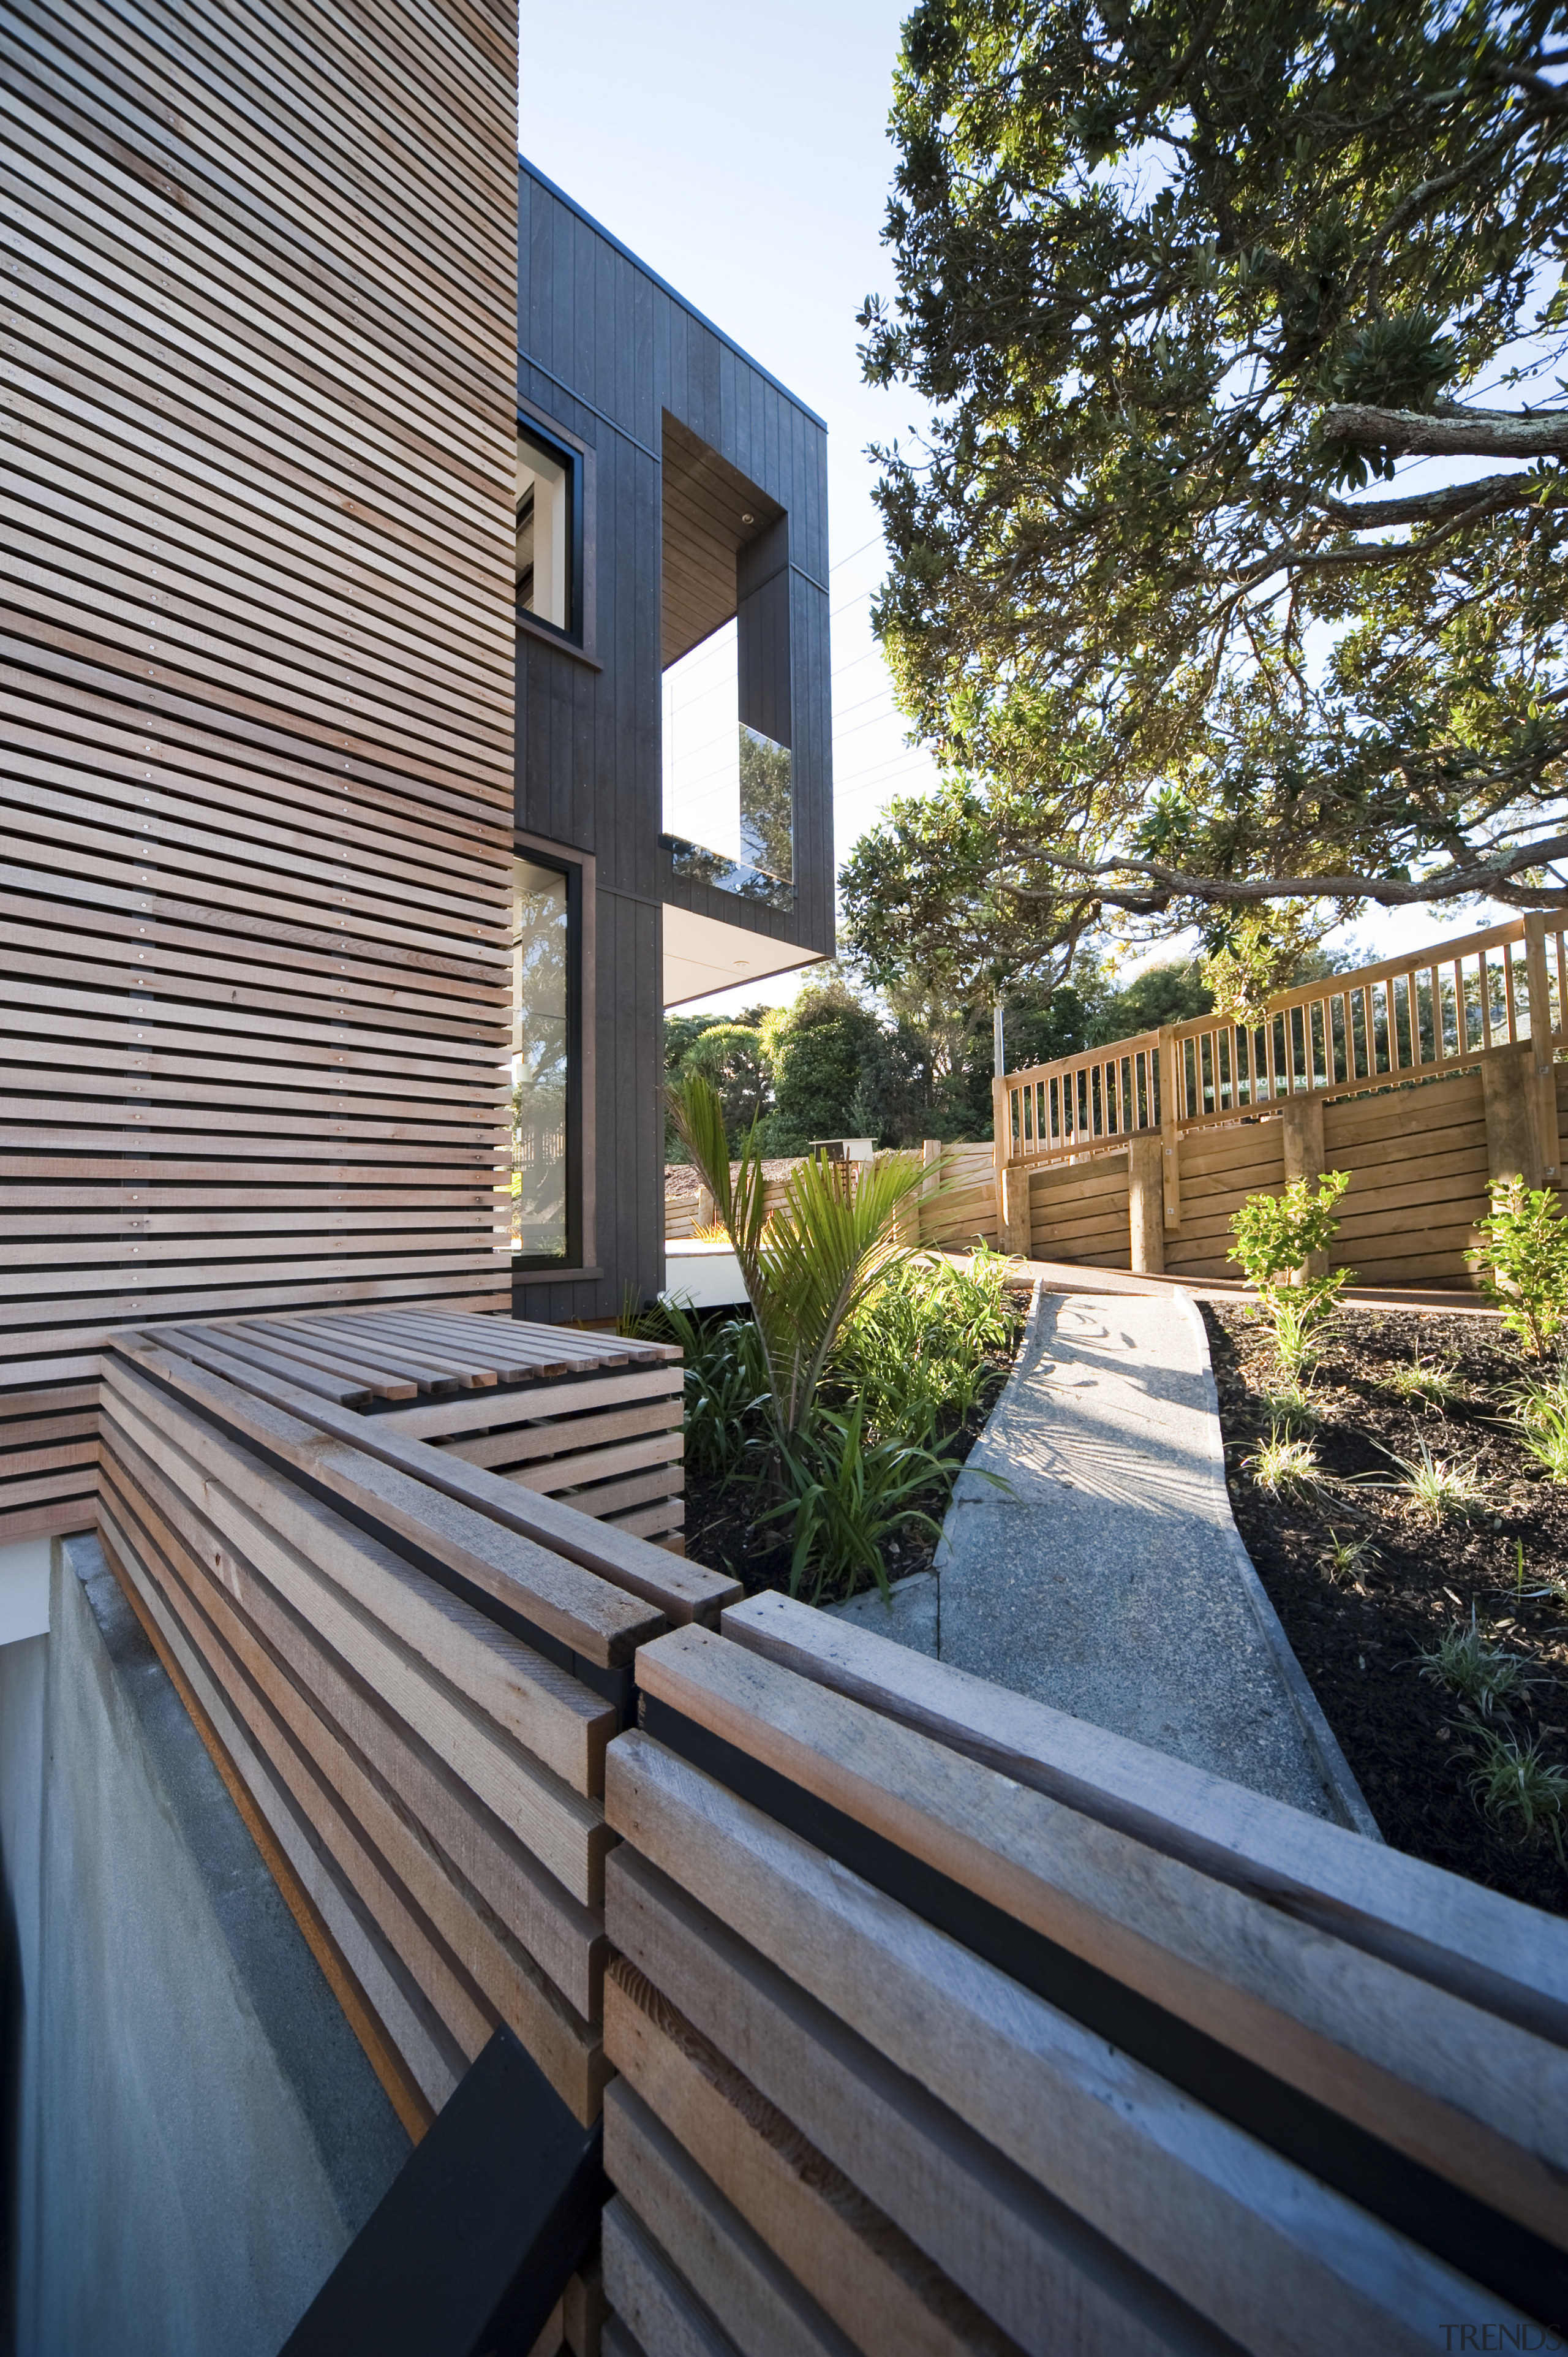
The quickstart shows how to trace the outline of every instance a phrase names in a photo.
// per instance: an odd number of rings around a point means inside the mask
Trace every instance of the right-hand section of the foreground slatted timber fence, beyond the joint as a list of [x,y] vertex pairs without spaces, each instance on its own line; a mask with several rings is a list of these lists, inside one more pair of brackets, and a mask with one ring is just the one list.
[[757,1596],[606,1758],[606,2348],[1551,2348],[1563,1923]]

